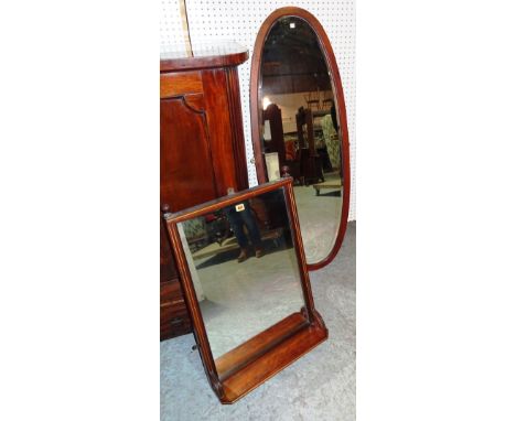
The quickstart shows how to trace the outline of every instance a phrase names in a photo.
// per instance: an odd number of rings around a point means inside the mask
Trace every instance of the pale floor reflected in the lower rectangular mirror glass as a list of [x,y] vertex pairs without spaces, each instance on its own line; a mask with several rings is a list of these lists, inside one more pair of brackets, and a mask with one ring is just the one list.
[[238,263],[235,250],[232,259],[217,255],[197,267],[205,296],[201,313],[215,359],[304,305],[294,249],[265,249],[260,259]]

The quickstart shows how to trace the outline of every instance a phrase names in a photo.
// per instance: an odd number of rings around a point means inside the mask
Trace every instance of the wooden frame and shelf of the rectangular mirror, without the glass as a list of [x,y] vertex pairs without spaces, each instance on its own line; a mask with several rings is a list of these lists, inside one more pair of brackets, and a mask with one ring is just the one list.
[[[245,360],[246,363],[240,365],[235,363],[236,365],[234,367],[230,367],[223,375],[219,375],[209,347],[203,315],[195,295],[192,276],[181,241],[178,224],[277,190],[283,190],[284,192],[287,213],[292,231],[292,242],[298,260],[304,298],[302,313],[307,323],[300,325],[299,320],[289,321],[291,317],[278,321],[279,323],[245,343],[247,347],[256,348],[260,346],[259,342],[260,338],[262,338],[262,342],[267,342],[271,346],[270,348],[258,354],[255,349],[252,353],[254,359]],[[222,403],[235,402],[327,338],[327,328],[313,303],[291,177],[261,184],[257,187],[230,196],[221,197],[175,214],[165,214],[164,218],[178,262],[178,269],[181,274],[180,279],[185,294],[186,306],[193,323],[195,342],[201,354],[204,370],[212,389]],[[246,346],[239,346],[235,348],[237,349],[235,354],[238,354],[238,348],[240,348],[240,355],[236,356],[235,361],[238,359],[243,360],[241,352],[246,352]]]

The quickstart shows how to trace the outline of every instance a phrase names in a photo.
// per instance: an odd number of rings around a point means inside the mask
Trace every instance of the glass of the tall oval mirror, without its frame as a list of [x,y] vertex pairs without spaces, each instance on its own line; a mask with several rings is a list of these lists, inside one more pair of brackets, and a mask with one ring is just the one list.
[[[276,153],[281,174],[294,179],[307,262],[321,262],[341,228],[343,130],[332,73],[307,20],[287,15],[271,24],[261,50],[257,104],[261,152],[268,160]],[[275,180],[269,162],[266,173]]]

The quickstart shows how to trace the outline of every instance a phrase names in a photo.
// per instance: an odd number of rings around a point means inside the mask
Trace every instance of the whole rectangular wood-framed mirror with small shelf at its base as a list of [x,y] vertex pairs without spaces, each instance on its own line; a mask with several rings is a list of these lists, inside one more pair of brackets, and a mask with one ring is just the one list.
[[[262,253],[238,262],[238,245],[208,227],[217,215],[245,224],[247,235],[256,224]],[[292,179],[164,218],[204,369],[223,403],[327,338],[312,298]]]

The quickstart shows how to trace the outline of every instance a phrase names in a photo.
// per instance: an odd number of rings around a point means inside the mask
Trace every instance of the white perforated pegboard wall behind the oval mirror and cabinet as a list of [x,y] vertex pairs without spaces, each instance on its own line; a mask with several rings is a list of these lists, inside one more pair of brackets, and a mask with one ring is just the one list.
[[[161,0],[161,50],[184,48],[178,0]],[[186,0],[192,45],[213,41],[236,41],[249,48],[249,61],[238,68],[246,138],[249,184],[256,185],[256,171],[249,162],[252,158],[249,116],[250,57],[256,35],[265,19],[276,9],[297,6],[314,14],[326,31],[343,80],[346,101],[351,150],[351,203],[350,220],[356,219],[355,205],[355,0]]]

